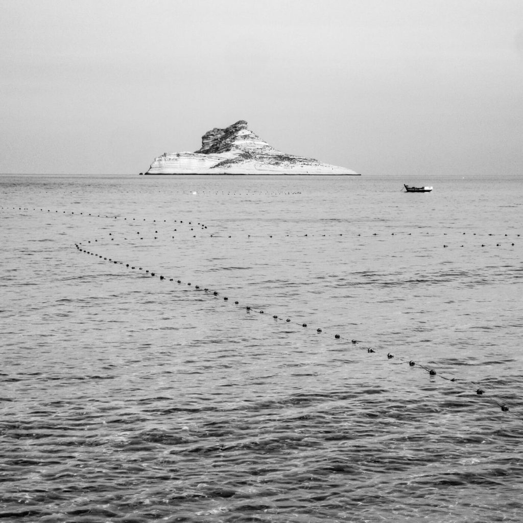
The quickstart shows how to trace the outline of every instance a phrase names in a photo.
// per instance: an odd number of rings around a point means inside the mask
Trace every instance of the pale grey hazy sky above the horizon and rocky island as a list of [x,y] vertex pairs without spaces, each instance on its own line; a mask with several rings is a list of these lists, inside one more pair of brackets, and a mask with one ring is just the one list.
[[0,173],[135,174],[246,120],[362,175],[523,174],[522,0],[0,0]]

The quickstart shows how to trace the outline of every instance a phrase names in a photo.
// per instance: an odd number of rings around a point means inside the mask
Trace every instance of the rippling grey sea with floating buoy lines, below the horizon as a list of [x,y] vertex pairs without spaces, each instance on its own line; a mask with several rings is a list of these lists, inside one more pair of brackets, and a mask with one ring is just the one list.
[[523,177],[0,189],[1,521],[523,520]]

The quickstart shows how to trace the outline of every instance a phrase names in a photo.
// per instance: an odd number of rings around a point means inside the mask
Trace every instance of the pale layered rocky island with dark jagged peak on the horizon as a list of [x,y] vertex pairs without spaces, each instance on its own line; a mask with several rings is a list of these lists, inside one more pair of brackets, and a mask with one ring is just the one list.
[[358,175],[354,170],[282,153],[247,129],[245,120],[214,128],[194,153],[164,153],[145,174]]

